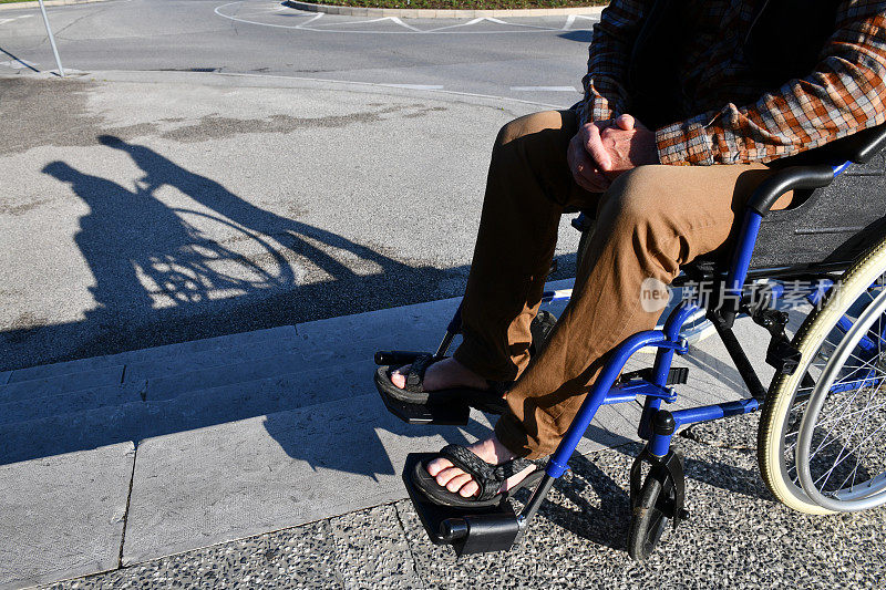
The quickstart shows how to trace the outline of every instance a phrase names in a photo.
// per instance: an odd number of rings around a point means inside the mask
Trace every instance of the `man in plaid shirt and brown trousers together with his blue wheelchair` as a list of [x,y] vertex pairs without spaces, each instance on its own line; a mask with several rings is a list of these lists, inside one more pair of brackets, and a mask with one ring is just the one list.
[[[638,395],[637,559],[686,517],[674,431],[758,407],[761,470],[781,501],[818,514],[886,501],[885,79],[886,2],[612,0],[585,99],[498,134],[467,289],[440,350],[377,354],[375,384],[403,420],[460,423],[468,405],[501,414],[487,439],[411,455],[404,480],[433,540],[509,548],[597,408]],[[534,319],[560,216],[575,209],[595,229],[542,345]],[[719,297],[683,301],[656,330],[661,309],[643,289],[690,279]],[[767,301],[777,281],[810,286],[816,310],[793,340],[784,312],[749,298],[761,279]],[[673,354],[699,312],[751,396],[669,412],[687,377]],[[740,313],[771,334],[769,391],[732,333]],[[622,374],[645,346],[655,366]],[[504,500],[535,484],[516,515]]]

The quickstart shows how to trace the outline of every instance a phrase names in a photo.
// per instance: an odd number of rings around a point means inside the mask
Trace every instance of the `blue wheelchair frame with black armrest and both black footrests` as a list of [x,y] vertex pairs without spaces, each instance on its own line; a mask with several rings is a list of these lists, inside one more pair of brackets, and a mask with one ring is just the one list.
[[[683,300],[671,311],[661,329],[636,333],[608,353],[606,364],[591,385],[557,449],[550,456],[544,476],[519,514],[516,514],[507,503],[492,508],[475,509],[436,505],[423,496],[411,479],[411,473],[421,468],[422,462],[430,459],[433,455],[412,453],[406,457],[403,482],[425,530],[434,542],[452,545],[459,555],[509,549],[538,511],[554,480],[562,477],[568,469],[569,458],[600,406],[632,402],[640,395],[645,396],[645,402],[638,435],[647,444],[630,469],[631,505],[638,506],[642,465],[649,464],[651,469],[649,477],[655,477],[655,480],[662,485],[659,489],[666,491],[670,498],[663,508],[667,511],[664,516],[670,518],[673,527],[677,527],[688,516],[683,509],[682,458],[671,449],[674,433],[691,424],[754,412],[760,408],[766,395],[766,389],[762,385],[756,371],[732,332],[738,314],[748,312],[756,323],[769,330],[772,340],[766,352],[766,362],[775,366],[776,371],[782,374],[792,374],[800,364],[800,351],[793,346],[785,334],[787,314],[779,310],[763,309],[762,306],[748,304],[744,289],[749,277],[754,279],[815,277],[818,281],[817,286],[811,289],[806,298],[812,304],[818,304],[824,296],[821,287],[833,286],[828,277],[833,272],[845,270],[851,263],[851,258],[846,258],[836,263],[834,261],[816,262],[807,267],[803,265],[779,269],[767,267],[766,269],[755,268],[751,271],[754,248],[761,235],[763,218],[782,195],[791,190],[814,190],[826,187],[851,165],[865,164],[883,152],[886,148],[886,124],[865,130],[855,136],[839,139],[832,146],[825,147],[830,151],[815,151],[817,152],[814,155],[816,163],[799,165],[799,161],[795,161],[793,165],[777,169],[775,174],[758,186],[746,204],[730,265],[725,271],[713,267],[711,270],[703,263],[693,263],[684,269],[687,276],[690,272],[700,273],[704,280],[710,279],[713,282],[717,293],[722,296],[717,304],[708,302],[702,306],[700,301]],[[823,161],[839,164],[818,164]],[[854,256],[856,255],[853,253]],[[765,258],[765,253],[763,257]],[[674,284],[680,280],[681,278],[678,278]],[[542,301],[564,301],[569,297],[564,292],[546,292]],[[662,407],[662,403],[677,401],[677,393],[671,385],[686,382],[686,369],[672,368],[673,355],[674,353],[686,354],[689,351],[684,334],[691,334],[698,329],[696,322],[700,317],[707,317],[713,324],[751,396],[734,402],[670,412]],[[852,323],[851,318],[844,317],[843,324],[845,325],[838,324],[837,328],[848,330]],[[461,332],[461,324],[460,308],[452,318],[436,351],[437,358],[446,354],[455,335]],[[684,331],[688,325],[689,330]],[[886,329],[884,331],[886,332]],[[872,334],[872,337],[875,339],[886,337],[886,333]],[[864,344],[863,341],[861,348],[865,353],[876,353],[873,342],[869,342],[869,351],[866,351]],[[628,360],[643,348],[657,349],[653,365],[643,371],[622,374]],[[382,351],[375,354],[375,362],[379,365],[403,364],[411,362],[419,354],[421,353]],[[853,383],[844,383],[839,386],[861,387],[869,383],[870,379],[873,379],[870,374],[865,374]],[[467,422],[467,405],[432,406],[432,404],[427,404],[419,406],[403,402],[394,403],[383,393],[382,398],[392,413],[412,424],[465,424]]]

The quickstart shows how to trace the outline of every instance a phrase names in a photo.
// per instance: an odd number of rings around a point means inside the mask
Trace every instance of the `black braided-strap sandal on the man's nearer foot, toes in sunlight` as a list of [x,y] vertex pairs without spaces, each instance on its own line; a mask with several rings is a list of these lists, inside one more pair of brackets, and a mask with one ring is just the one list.
[[[432,503],[459,508],[496,506],[513,496],[518,489],[530,486],[542,479],[545,475],[544,467],[547,464],[547,458],[530,460],[517,457],[501,465],[491,465],[474,455],[467,447],[461,445],[444,446],[440,451],[440,456],[447,458],[454,467],[468,474],[480,486],[480,494],[465,498],[457,493],[450,491],[437,484],[436,479],[427,473],[426,462],[415,464],[415,469],[412,472],[412,482]],[[536,467],[534,472],[507,491],[498,493],[505,479],[521,473],[530,465]]]

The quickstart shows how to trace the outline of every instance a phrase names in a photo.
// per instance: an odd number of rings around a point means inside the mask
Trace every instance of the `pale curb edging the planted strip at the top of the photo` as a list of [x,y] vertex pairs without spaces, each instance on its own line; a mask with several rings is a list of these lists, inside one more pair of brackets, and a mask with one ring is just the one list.
[[[101,0],[86,0],[101,1]],[[347,17],[401,17],[404,19],[473,19],[502,17],[563,17],[568,14],[599,15],[606,7],[526,8],[507,10],[432,10],[403,8],[332,7],[286,0],[285,6],[307,12],[326,12]]]

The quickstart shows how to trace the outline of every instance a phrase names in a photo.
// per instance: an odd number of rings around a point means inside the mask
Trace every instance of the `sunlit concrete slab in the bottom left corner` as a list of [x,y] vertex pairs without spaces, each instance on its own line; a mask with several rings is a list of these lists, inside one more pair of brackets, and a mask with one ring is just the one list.
[[132,443],[0,466],[0,588],[117,567]]

